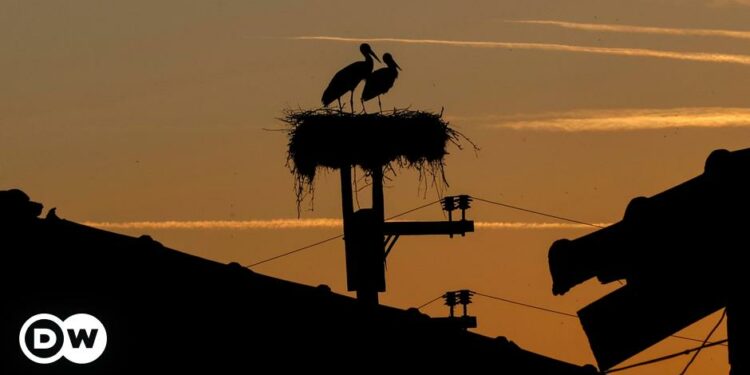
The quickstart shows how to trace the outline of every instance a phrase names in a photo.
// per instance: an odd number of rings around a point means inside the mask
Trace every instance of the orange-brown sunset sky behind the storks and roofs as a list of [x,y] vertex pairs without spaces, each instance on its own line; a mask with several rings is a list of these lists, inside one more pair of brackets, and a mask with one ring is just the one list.
[[[5,0],[0,189],[221,262],[335,236],[337,174],[321,173],[297,221],[276,130],[284,110],[320,106],[368,41],[403,69],[385,108],[443,110],[481,148],[449,150],[444,193],[612,223],[630,199],[702,173],[712,150],[748,146],[748,19],[746,0]],[[398,172],[386,216],[438,199]],[[549,246],[595,228],[481,202],[469,217],[483,224],[463,238],[399,240],[381,302],[407,308],[468,288],[574,313],[619,287],[592,280],[552,296]],[[404,217],[442,218],[434,205]],[[347,293],[340,240],[254,270]],[[423,311],[447,314],[439,303]],[[470,312],[479,333],[594,363],[575,319],[481,297]],[[680,334],[702,339],[718,319]],[[666,339],[624,364],[695,344]],[[706,349],[689,373],[727,373],[726,355]],[[687,360],[629,373],[677,373]]]

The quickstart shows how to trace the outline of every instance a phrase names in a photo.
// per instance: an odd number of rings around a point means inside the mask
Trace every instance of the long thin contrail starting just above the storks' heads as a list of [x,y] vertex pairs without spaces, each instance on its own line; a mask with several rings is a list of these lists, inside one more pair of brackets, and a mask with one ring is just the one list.
[[541,50],[573,53],[589,53],[596,55],[610,56],[628,56],[628,57],[651,57],[658,59],[671,59],[682,61],[698,61],[710,63],[725,63],[750,65],[750,55],[736,55],[723,53],[708,52],[676,52],[662,51],[645,48],[614,48],[614,47],[590,47],[577,46],[570,44],[551,44],[551,43],[517,43],[517,42],[482,42],[482,41],[460,41],[460,40],[440,40],[440,39],[403,39],[403,38],[345,38],[337,36],[296,36],[289,37],[293,40],[319,40],[346,43],[364,43],[364,42],[381,42],[381,43],[402,43],[402,44],[422,44],[422,45],[439,45],[451,47],[470,47],[470,48],[504,48],[519,50]]

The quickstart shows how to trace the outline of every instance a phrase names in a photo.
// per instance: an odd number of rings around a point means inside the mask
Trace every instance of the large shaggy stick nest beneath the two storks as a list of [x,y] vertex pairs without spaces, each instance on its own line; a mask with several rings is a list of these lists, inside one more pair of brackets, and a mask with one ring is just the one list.
[[287,110],[287,164],[295,176],[297,205],[312,194],[319,167],[359,166],[366,174],[385,168],[414,168],[420,179],[447,186],[444,157],[448,143],[461,149],[468,138],[443,120],[442,113],[394,109],[385,113],[351,114],[333,109]]

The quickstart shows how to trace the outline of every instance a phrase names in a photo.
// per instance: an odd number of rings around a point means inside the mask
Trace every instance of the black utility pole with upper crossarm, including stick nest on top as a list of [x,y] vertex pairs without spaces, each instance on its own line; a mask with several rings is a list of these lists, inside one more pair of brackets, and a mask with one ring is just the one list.
[[[288,161],[296,179],[297,208],[312,193],[318,168],[339,170],[344,222],[347,289],[368,304],[385,291],[385,259],[402,235],[465,235],[474,231],[466,220],[468,196],[444,202],[444,222],[386,222],[383,175],[391,167],[413,168],[445,183],[444,158],[450,144],[461,139],[440,114],[409,109],[380,114],[348,114],[330,109],[289,111]],[[471,143],[476,149],[476,146]],[[354,209],[352,168],[372,178],[372,205]],[[452,211],[461,209],[461,220]],[[456,215],[458,218],[458,215]]]

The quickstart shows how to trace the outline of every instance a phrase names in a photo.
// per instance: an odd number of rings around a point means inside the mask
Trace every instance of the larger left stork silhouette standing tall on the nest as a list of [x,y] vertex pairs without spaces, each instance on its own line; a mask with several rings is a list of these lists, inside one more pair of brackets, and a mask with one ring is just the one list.
[[369,44],[362,43],[359,46],[359,51],[365,56],[365,61],[357,61],[349,64],[349,66],[339,70],[338,73],[333,76],[331,83],[329,83],[326,90],[323,91],[323,98],[321,99],[323,101],[323,106],[327,107],[334,100],[338,100],[339,109],[342,109],[341,96],[347,92],[351,92],[349,103],[352,107],[352,113],[354,113],[354,89],[357,88],[360,81],[366,79],[370,73],[372,73],[372,58],[374,57],[375,60],[380,62],[380,59],[375,55],[375,52],[372,51]]

